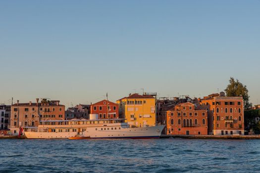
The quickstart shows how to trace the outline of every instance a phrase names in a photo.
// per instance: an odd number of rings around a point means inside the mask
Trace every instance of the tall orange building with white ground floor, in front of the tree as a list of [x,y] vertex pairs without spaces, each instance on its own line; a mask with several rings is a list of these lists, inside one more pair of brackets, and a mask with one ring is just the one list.
[[243,97],[227,97],[220,92],[204,97],[201,104],[209,106],[209,134],[244,135]]

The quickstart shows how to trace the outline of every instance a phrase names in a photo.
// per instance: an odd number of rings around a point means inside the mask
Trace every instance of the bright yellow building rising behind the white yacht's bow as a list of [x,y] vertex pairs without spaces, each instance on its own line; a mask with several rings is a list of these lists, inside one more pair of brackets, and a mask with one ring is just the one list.
[[131,127],[156,125],[156,98],[151,95],[129,94],[116,101],[119,117],[126,118]]

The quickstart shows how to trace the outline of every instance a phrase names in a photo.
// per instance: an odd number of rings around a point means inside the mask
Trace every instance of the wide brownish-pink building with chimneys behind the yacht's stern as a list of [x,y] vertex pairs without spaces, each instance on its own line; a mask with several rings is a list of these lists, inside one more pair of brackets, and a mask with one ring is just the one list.
[[[19,129],[38,127],[44,120],[64,120],[65,106],[59,104],[59,100],[36,99],[36,103],[17,103],[11,106],[10,130],[13,134],[18,134]],[[47,122],[47,124],[57,124],[57,122]]]

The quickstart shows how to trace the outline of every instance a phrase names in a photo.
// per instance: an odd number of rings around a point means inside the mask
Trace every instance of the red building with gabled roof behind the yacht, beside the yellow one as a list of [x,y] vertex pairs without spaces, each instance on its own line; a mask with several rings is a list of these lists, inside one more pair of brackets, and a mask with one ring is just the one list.
[[102,100],[90,106],[91,114],[98,114],[99,119],[118,118],[118,104]]

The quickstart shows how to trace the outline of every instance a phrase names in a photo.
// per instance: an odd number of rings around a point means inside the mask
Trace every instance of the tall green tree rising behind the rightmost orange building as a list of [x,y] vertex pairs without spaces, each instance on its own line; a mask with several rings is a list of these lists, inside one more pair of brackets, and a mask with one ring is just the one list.
[[249,103],[249,95],[247,86],[244,86],[242,83],[235,81],[233,77],[230,77],[229,85],[225,89],[227,96],[241,96],[244,99],[244,109],[249,110],[252,107],[252,103]]

